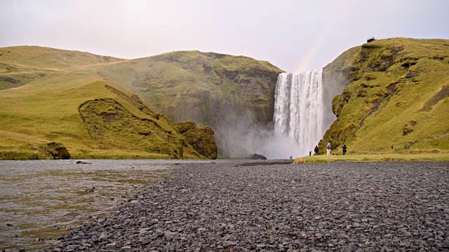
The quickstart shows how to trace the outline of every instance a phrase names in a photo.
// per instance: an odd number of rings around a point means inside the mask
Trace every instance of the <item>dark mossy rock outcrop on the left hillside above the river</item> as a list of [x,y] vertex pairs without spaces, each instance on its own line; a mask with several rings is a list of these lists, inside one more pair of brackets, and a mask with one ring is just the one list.
[[145,151],[173,159],[183,159],[186,155],[216,158],[216,151],[215,155],[211,155],[210,151],[215,145],[213,132],[210,134],[199,130],[201,128],[197,128],[193,122],[184,125],[189,125],[195,130],[199,144],[192,143],[179,134],[166,118],[160,117],[159,120],[139,118],[114,99],[94,99],[84,102],[79,106],[79,113],[91,139],[98,142],[99,148],[102,149]]

